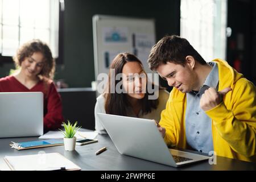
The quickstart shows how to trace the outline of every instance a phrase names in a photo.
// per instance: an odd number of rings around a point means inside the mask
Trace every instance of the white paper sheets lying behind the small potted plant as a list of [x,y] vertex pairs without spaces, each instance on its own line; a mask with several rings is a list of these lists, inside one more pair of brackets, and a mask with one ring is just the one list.
[[[77,131],[75,134],[76,139],[94,139],[98,133],[94,131]],[[46,134],[39,137],[39,139],[63,139],[64,135],[61,131],[48,131]]]

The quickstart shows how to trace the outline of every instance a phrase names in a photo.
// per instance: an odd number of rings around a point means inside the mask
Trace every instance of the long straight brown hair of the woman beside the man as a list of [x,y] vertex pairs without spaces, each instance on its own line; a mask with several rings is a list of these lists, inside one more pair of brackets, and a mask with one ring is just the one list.
[[[143,68],[143,65],[141,61],[138,59],[138,57],[130,54],[130,53],[119,53],[112,61],[112,64],[110,65],[110,69],[114,69],[115,75],[118,73],[122,73],[123,66],[127,62],[135,61],[138,62],[141,67]],[[105,90],[108,92],[104,93],[105,97],[105,110],[107,114],[115,114],[115,115],[123,115],[127,116],[127,107],[131,106],[130,102],[127,100],[127,94],[126,93],[110,93],[110,72],[109,72],[109,81],[108,85],[106,86]],[[115,79],[115,85],[119,80]],[[147,82],[148,84],[149,82]],[[150,83],[152,84],[152,83]],[[152,84],[152,88],[154,88],[154,84]],[[147,86],[146,86],[147,88]],[[150,113],[152,109],[156,109],[158,105],[158,100],[148,100],[148,90],[146,90],[144,98],[141,100],[142,104],[142,113],[147,114]]]

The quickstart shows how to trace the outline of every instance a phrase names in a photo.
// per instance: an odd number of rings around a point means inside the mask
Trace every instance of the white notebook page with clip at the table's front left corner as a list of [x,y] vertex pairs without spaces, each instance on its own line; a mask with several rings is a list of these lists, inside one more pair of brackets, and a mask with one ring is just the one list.
[[11,171],[67,171],[81,170],[79,166],[59,153],[5,156],[3,158]]

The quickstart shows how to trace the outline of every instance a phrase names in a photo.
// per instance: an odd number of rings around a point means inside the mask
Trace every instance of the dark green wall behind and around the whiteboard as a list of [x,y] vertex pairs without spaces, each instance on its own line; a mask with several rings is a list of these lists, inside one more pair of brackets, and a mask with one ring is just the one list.
[[[180,34],[180,0],[65,0],[64,64],[57,65],[55,79],[64,79],[69,87],[90,87],[94,80],[95,14],[154,18],[156,40],[167,34]],[[12,65],[0,67],[0,76],[5,76]]]

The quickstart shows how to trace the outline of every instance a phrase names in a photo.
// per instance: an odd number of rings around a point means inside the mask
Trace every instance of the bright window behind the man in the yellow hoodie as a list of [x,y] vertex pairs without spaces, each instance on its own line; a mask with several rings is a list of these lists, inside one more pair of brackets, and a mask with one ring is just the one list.
[[226,59],[227,0],[181,0],[180,36],[205,61]]

